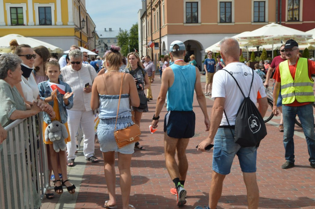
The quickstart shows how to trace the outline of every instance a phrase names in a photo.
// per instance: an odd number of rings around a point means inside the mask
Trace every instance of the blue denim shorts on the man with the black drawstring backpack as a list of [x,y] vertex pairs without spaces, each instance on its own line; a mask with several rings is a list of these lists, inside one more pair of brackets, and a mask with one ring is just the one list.
[[[232,129],[234,134],[234,130]],[[231,167],[235,155],[242,172],[256,172],[257,147],[241,147],[234,142],[231,130],[228,128],[219,128],[214,138],[214,150],[212,170],[222,175],[231,172]]]

